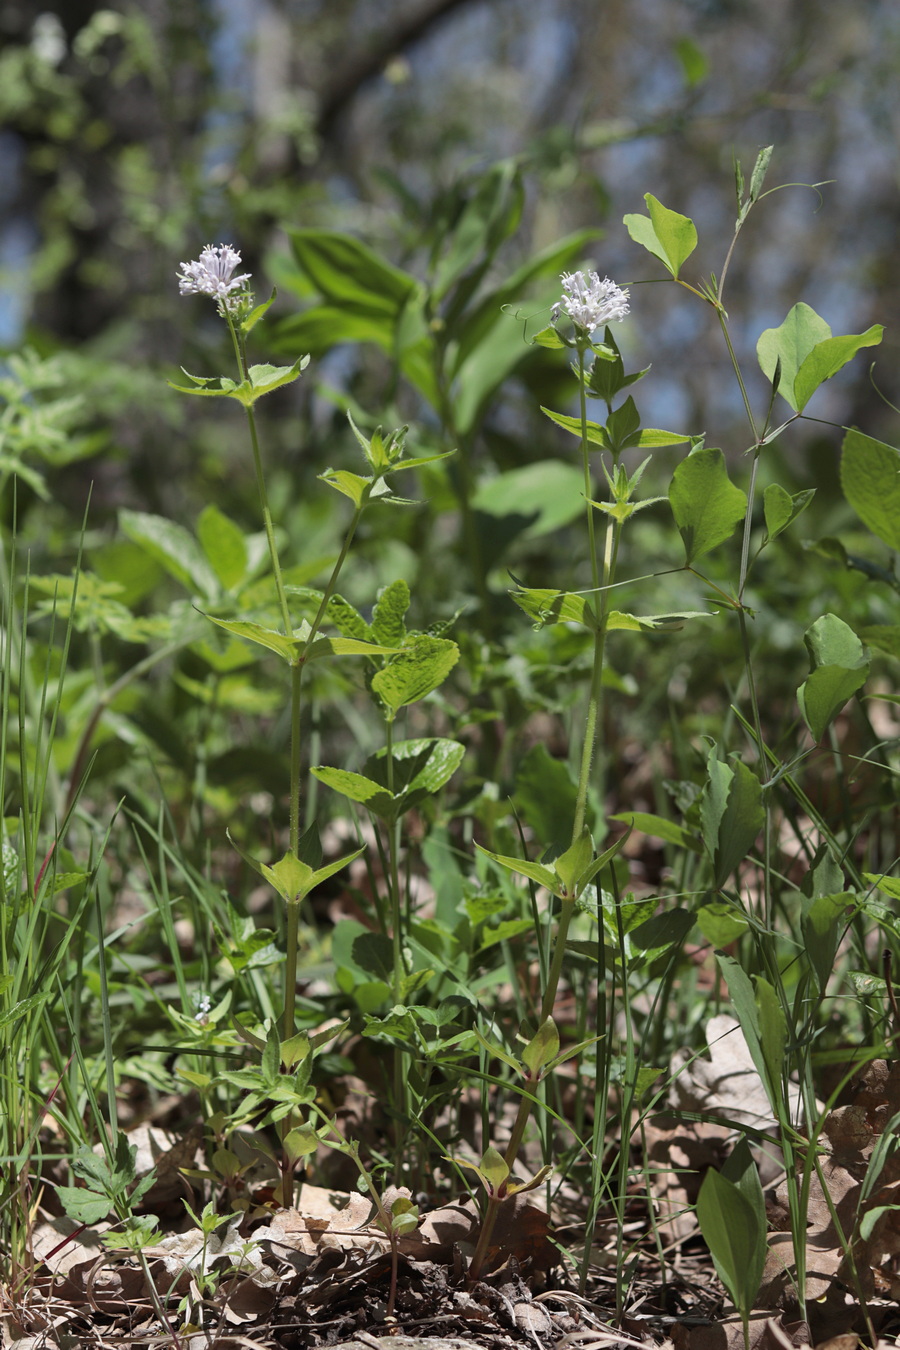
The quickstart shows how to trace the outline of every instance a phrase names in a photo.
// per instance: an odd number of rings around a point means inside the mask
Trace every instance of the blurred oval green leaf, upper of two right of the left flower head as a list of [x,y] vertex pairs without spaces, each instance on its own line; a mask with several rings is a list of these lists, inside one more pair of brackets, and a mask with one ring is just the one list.
[[376,252],[333,230],[290,230],[302,271],[325,300],[360,313],[395,316],[418,290],[414,277]]

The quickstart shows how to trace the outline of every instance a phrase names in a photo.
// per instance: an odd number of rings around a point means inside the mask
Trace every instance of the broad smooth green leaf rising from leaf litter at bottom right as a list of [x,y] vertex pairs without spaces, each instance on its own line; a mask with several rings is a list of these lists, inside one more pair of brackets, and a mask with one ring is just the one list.
[[700,1233],[716,1274],[742,1319],[753,1311],[766,1257],[766,1228],[757,1207],[715,1168],[710,1168],[696,1202]]

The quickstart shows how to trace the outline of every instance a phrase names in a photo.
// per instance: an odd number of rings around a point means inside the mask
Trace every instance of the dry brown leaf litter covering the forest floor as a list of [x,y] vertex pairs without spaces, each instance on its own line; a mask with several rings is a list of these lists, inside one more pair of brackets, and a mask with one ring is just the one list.
[[[196,1226],[185,1228],[181,1204],[193,1193],[197,1133],[179,1137],[142,1126],[131,1135],[139,1174],[157,1169],[144,1208],[163,1224],[163,1235],[144,1249],[144,1266],[134,1253],[108,1245],[109,1224],[85,1226],[54,1215],[46,1208],[50,1192],[45,1193],[32,1233],[34,1270],[27,1293],[3,1316],[3,1345],[8,1350],[163,1343],[175,1350],[201,1345],[424,1350],[426,1342],[440,1341],[441,1350],[449,1345],[455,1350],[461,1345],[739,1350],[741,1319],[723,1297],[694,1214],[706,1169],[723,1165],[741,1126],[765,1131],[773,1125],[735,1026],[726,1017],[710,1021],[708,1060],[684,1057],[668,1111],[644,1126],[649,1185],[641,1189],[636,1183],[627,1197],[625,1237],[633,1260],[618,1326],[615,1223],[599,1218],[591,1277],[582,1295],[563,1254],[564,1247],[579,1247],[571,1188],[549,1214],[534,1196],[506,1202],[488,1273],[474,1282],[467,1280],[467,1262],[479,1228],[475,1204],[463,1200],[426,1210],[417,1228],[397,1239],[397,1297],[389,1316],[391,1245],[372,1223],[366,1196],[304,1184],[297,1207],[278,1210],[262,1199],[266,1187],[256,1181],[259,1203],[204,1235]],[[861,1308],[849,1295],[854,1276],[861,1278],[872,1326],[896,1328],[900,1152],[889,1146],[885,1130],[897,1112],[900,1064],[874,1061],[851,1084],[847,1100],[824,1118],[808,1206],[808,1320],[785,1273],[792,1253],[784,1180],[772,1174],[770,1150],[757,1152],[770,1187],[773,1231],[750,1319],[750,1350],[855,1350],[862,1328]],[[881,1156],[873,1183],[876,1150]],[[255,1202],[252,1188],[250,1199]],[[582,1234],[583,1222],[582,1216]],[[889,1343],[878,1339],[877,1350]]]

